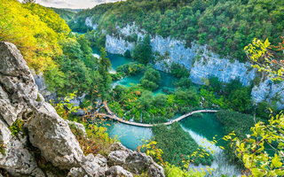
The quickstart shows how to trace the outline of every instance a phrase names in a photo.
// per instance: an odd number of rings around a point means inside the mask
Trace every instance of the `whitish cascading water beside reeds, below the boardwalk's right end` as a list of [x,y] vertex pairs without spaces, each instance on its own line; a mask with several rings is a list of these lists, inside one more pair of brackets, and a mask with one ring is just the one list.
[[[236,176],[241,177],[241,169],[239,169],[236,165],[231,165],[228,162],[228,159],[225,156],[224,150],[217,147],[217,145],[212,144],[207,141],[207,139],[201,135],[198,135],[194,133],[192,130],[187,129],[181,125],[181,127],[185,130],[185,132],[188,132],[195,142],[197,142],[199,145],[205,147],[205,150],[208,150],[208,147],[210,147],[211,150],[215,150],[214,152],[214,160],[212,164],[209,166],[210,168],[215,169],[212,172],[212,175],[207,173],[207,176],[213,176],[213,177],[220,177],[222,174],[225,174],[227,176]],[[193,168],[197,171],[201,171],[201,168],[206,169],[206,165],[190,165],[189,168]]]

